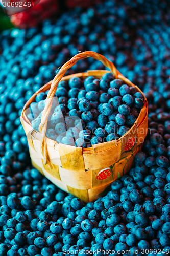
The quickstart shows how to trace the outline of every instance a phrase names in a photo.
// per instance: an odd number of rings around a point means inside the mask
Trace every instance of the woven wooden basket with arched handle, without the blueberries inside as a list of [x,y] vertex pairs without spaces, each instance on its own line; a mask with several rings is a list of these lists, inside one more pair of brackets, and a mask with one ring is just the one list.
[[[113,63],[104,56],[89,51],[83,52],[66,62],[54,80],[45,84],[29,99],[22,110],[20,120],[28,138],[33,166],[61,189],[88,202],[97,199],[111,182],[126,174],[131,168],[133,158],[140,150],[141,144],[147,135],[148,102],[144,97],[144,106],[134,125],[118,140],[96,144],[90,148],[81,148],[57,143],[45,137],[47,117],[51,110],[52,99],[58,82],[69,80],[73,76],[82,79],[87,76],[101,78],[103,74],[108,72],[106,70],[93,70],[63,77],[65,72],[79,59],[86,57],[101,60],[106,67],[110,68],[115,78],[122,79],[128,86],[133,86],[141,92],[137,86],[120,74]],[[40,132],[37,132],[32,128],[26,110],[30,103],[35,101],[38,93],[45,92],[48,89],[50,91],[39,125]]]

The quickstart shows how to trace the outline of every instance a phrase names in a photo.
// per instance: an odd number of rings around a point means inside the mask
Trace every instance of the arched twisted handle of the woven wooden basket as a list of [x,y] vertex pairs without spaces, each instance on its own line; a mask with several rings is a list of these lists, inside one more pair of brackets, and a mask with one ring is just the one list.
[[111,72],[115,75],[116,78],[120,74],[111,61],[109,61],[103,55],[95,53],[95,52],[91,52],[91,51],[86,51],[86,52],[82,52],[82,53],[79,53],[79,54],[75,55],[74,57],[72,57],[69,61],[67,61],[61,67],[60,71],[58,72],[58,74],[53,79],[50,91],[47,94],[45,108],[42,112],[41,123],[39,125],[39,131],[42,134],[41,152],[42,152],[42,155],[43,155],[44,164],[50,163],[50,161],[48,159],[45,133],[46,133],[46,126],[47,126],[47,118],[48,118],[48,115],[50,114],[50,111],[51,111],[51,108],[52,108],[53,97],[54,97],[55,92],[57,90],[58,83],[60,82],[60,80],[62,79],[62,77],[64,76],[64,74],[66,73],[66,71],[69,68],[74,66],[78,60],[84,59],[84,58],[87,58],[87,57],[92,57],[93,59],[102,61],[104,66],[108,67],[111,70]]

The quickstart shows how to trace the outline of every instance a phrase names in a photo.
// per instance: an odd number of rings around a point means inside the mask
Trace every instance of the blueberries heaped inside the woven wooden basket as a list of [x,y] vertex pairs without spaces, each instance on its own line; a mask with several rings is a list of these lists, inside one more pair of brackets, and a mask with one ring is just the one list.
[[[28,117],[36,131],[47,92],[39,93],[37,103],[30,105]],[[104,74],[100,80],[88,76],[84,84],[79,77],[61,81],[55,95],[59,104],[54,98],[46,136],[78,147],[91,147],[123,136],[144,105],[144,96],[136,88],[114,79],[111,73]]]

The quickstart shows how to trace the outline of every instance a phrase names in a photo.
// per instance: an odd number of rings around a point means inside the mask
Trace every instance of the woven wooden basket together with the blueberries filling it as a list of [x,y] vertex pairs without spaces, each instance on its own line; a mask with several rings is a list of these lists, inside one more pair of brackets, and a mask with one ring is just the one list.
[[[92,70],[63,77],[87,57],[102,61],[111,72]],[[66,62],[54,80],[28,100],[20,120],[33,166],[88,202],[131,168],[147,135],[148,102],[111,61],[87,51]]]

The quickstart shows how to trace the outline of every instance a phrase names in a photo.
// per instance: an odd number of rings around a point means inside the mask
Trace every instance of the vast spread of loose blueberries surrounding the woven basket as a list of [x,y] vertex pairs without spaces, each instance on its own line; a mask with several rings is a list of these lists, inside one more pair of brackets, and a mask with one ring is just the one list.
[[[119,250],[135,255],[137,249],[138,255],[143,249],[169,255],[169,17],[164,0],[106,0],[66,12],[55,23],[46,20],[37,28],[0,35],[0,256],[63,256],[80,248],[85,252],[79,256],[90,250],[96,256],[97,249],[99,256],[109,249],[115,251],[112,256],[121,255]],[[134,167],[112,183],[106,196],[88,204],[31,167],[19,121],[33,93],[86,50],[114,61],[149,102],[149,132]],[[100,68],[88,58],[69,72]]]

